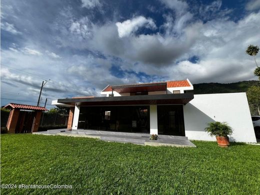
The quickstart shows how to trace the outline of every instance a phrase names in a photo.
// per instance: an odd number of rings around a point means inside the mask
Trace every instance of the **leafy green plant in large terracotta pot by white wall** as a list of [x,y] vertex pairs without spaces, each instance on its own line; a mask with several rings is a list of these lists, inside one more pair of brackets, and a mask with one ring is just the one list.
[[205,127],[211,136],[215,135],[217,144],[220,147],[227,147],[229,145],[229,138],[227,135],[232,134],[233,129],[226,122],[209,122]]

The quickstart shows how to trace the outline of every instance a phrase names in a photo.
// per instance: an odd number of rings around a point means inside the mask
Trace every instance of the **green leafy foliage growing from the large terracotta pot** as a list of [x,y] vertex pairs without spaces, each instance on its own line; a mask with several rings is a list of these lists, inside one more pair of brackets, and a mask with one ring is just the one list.
[[211,136],[227,136],[232,134],[233,129],[226,122],[215,121],[207,123],[205,131],[207,131]]

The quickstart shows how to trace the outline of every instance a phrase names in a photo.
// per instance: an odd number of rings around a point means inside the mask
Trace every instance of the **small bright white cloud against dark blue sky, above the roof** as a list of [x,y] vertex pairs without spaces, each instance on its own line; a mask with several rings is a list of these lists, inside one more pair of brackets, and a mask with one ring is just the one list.
[[145,18],[143,16],[137,16],[123,22],[116,22],[115,25],[117,26],[119,37],[128,36],[141,26],[151,29],[156,28],[156,25],[151,18]]

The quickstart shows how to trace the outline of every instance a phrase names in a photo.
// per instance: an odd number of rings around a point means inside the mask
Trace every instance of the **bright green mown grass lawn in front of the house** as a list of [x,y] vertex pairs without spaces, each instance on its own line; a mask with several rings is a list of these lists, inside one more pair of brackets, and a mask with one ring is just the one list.
[[2,134],[1,183],[72,189],[1,189],[1,194],[259,194],[260,146],[192,142],[196,148]]

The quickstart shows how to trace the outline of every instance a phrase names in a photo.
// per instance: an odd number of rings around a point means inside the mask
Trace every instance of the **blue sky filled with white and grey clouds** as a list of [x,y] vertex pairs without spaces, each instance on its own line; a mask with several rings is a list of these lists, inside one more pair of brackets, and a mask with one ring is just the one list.
[[[257,79],[260,0],[1,0],[1,105],[107,84]],[[259,60],[259,57],[258,57]]]

